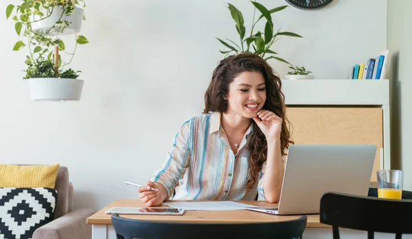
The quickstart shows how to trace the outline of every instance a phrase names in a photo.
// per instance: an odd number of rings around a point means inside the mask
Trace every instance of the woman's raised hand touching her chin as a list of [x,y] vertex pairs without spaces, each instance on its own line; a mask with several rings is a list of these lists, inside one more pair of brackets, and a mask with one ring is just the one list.
[[264,136],[266,136],[266,140],[277,140],[280,138],[282,118],[275,113],[268,110],[260,110],[258,116],[253,118],[253,120],[258,124]]

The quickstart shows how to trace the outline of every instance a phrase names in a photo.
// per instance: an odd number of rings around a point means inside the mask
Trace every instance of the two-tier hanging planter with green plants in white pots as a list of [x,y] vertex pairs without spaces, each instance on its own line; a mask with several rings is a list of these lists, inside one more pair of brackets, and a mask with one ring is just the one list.
[[[15,22],[19,40],[13,50],[20,51],[27,46],[23,70],[31,97],[34,100],[67,101],[80,100],[84,81],[78,78],[80,71],[67,66],[73,60],[78,45],[89,42],[86,37],[78,36],[82,21],[85,20],[83,0],[22,0],[20,5],[8,5],[6,18]],[[66,51],[60,35],[73,34],[74,49]],[[60,53],[69,55],[69,61],[62,59]]]

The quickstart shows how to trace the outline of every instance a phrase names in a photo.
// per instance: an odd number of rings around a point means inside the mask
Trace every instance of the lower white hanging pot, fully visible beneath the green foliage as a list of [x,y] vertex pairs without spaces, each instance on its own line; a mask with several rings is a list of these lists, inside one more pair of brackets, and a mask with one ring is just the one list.
[[29,88],[34,101],[78,101],[84,81],[65,78],[31,78]]

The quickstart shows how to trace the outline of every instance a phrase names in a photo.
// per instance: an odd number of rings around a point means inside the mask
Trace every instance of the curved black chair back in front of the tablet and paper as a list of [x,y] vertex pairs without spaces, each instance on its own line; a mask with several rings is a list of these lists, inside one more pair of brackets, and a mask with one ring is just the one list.
[[307,216],[273,223],[173,223],[111,217],[117,239],[302,238]]

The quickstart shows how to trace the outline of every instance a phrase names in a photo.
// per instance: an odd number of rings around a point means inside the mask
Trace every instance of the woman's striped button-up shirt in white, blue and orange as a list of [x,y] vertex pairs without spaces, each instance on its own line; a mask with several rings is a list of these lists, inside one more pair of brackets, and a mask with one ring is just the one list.
[[249,158],[246,143],[251,131],[250,126],[235,155],[220,127],[220,113],[193,117],[183,123],[168,158],[150,181],[163,184],[168,198],[176,188],[173,199],[253,200],[257,191],[263,197],[264,167],[259,173],[259,183],[246,190]]

